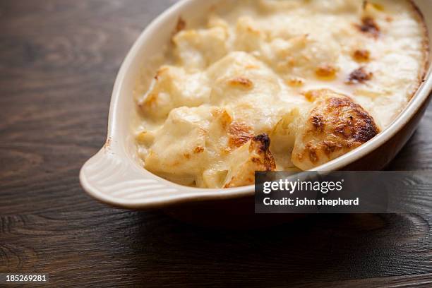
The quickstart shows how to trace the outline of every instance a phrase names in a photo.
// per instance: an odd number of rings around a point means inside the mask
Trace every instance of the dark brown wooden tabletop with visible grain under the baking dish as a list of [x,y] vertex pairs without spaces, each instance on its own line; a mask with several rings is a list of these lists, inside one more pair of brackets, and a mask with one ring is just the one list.
[[[53,287],[432,287],[432,215],[229,231],[84,193],[121,61],[172,2],[0,1],[0,272],[49,273]],[[389,169],[432,169],[431,129],[432,107]]]

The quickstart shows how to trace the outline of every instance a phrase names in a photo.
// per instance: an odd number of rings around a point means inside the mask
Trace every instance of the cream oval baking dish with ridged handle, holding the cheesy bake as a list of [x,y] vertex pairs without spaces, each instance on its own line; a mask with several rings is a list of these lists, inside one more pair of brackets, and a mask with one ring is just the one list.
[[[114,83],[109,108],[107,142],[102,150],[85,162],[80,170],[80,183],[90,196],[121,208],[160,208],[176,203],[203,200],[224,200],[252,196],[253,186],[227,189],[203,189],[180,186],[155,176],[140,167],[137,160],[134,136],[131,129],[132,113],[136,113],[133,88],[145,59],[160,52],[169,41],[179,16],[185,19],[203,15],[218,0],[184,0],[162,13],[148,25],[131,48],[121,65]],[[428,30],[432,30],[431,1],[414,1],[426,18]],[[387,164],[414,133],[432,90],[430,73],[404,109],[402,114],[378,136],[352,152],[332,160],[318,171],[337,169],[380,169]],[[386,148],[386,145],[389,147]],[[383,152],[385,151],[385,152]],[[386,153],[379,163],[371,164],[373,153]],[[361,163],[369,162],[366,166]],[[378,161],[378,160],[377,160]]]

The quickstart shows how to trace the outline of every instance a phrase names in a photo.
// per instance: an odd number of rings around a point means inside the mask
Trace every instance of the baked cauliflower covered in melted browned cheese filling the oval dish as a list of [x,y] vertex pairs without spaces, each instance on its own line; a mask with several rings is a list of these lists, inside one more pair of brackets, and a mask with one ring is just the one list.
[[339,157],[386,128],[426,70],[409,1],[222,1],[205,22],[179,22],[138,96],[138,154],[179,184],[242,186]]

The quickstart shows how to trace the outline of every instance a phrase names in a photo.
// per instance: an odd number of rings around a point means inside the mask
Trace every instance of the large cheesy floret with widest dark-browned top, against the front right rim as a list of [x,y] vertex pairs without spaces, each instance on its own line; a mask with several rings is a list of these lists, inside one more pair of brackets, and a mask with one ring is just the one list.
[[299,132],[292,152],[292,162],[300,169],[324,164],[379,133],[373,118],[351,98],[332,90],[306,93],[315,106]]

